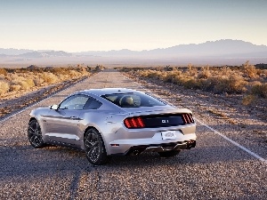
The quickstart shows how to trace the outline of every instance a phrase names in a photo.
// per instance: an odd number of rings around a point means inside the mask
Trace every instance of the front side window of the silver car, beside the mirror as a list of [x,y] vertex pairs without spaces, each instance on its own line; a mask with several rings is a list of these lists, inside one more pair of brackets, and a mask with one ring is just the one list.
[[61,109],[83,109],[89,97],[85,95],[73,95],[61,102]]

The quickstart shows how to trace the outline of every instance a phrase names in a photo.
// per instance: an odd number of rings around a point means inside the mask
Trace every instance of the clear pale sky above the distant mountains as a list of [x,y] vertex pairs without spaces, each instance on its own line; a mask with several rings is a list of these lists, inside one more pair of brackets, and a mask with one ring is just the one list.
[[133,51],[267,45],[267,0],[0,0],[0,48]]

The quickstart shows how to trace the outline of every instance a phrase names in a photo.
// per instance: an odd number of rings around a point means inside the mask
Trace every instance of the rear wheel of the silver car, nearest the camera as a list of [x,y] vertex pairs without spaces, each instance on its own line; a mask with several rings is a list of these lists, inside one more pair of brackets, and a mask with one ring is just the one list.
[[106,164],[108,156],[101,134],[95,129],[85,132],[85,155],[94,165]]

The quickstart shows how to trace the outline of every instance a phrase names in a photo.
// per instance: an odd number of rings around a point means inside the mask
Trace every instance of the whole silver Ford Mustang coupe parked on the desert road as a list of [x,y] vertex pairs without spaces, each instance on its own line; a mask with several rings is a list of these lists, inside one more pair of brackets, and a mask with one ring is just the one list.
[[59,105],[32,110],[28,123],[33,147],[81,148],[91,164],[143,152],[175,156],[196,146],[195,132],[189,109],[125,88],[75,92]]

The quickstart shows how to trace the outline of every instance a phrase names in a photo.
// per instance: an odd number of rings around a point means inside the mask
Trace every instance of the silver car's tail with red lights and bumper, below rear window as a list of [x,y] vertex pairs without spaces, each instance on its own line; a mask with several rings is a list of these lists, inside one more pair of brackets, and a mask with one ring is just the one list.
[[107,153],[139,155],[194,148],[196,123],[190,110],[160,109],[142,111],[139,108],[135,112],[133,108],[129,109],[120,120],[121,126],[117,132],[109,135]]

